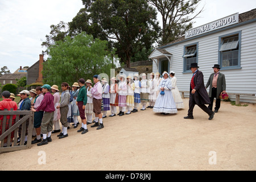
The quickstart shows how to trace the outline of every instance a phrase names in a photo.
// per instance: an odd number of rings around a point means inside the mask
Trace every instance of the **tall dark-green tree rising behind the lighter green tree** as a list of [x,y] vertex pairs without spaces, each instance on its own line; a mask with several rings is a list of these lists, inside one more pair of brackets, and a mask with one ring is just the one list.
[[[85,5],[69,26],[94,38],[108,40],[121,62],[130,67],[131,57],[143,48],[151,49],[160,27],[156,10],[145,0],[82,0]],[[110,47],[111,47],[110,46]]]

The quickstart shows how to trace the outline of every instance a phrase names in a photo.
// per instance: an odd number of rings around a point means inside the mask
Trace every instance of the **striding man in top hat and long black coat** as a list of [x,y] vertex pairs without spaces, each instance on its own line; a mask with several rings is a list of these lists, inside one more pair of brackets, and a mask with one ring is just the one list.
[[198,105],[209,115],[210,120],[213,118],[214,112],[205,106],[205,104],[210,104],[210,99],[204,86],[204,75],[198,68],[197,63],[191,63],[190,69],[193,76],[190,82],[189,109],[188,115],[184,119],[193,119],[193,109],[195,105]]

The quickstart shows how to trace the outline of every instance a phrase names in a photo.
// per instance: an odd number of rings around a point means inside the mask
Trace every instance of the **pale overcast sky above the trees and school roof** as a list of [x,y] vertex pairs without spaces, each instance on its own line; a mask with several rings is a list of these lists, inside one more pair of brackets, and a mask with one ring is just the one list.
[[[0,68],[7,66],[13,73],[20,66],[31,67],[45,50],[41,44],[50,26],[71,22],[82,7],[81,0],[0,0]],[[198,10],[203,7],[193,27],[255,9],[256,1],[202,0]]]

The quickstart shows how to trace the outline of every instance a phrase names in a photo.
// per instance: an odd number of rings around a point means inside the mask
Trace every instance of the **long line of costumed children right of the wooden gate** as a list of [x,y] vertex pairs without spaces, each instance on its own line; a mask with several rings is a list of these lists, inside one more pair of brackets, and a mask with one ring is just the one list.
[[[94,86],[92,86],[91,80],[85,81],[80,78],[78,82],[73,83],[72,92],[69,92],[68,83],[63,82],[61,84],[63,91],[61,97],[57,85],[45,84],[41,88],[32,90],[31,93],[36,95],[31,97],[31,110],[35,112],[34,127],[36,129],[36,138],[32,143],[38,143],[38,146],[41,146],[51,142],[51,133],[60,132],[59,122],[61,122],[62,131],[57,137],[60,139],[68,137],[69,116],[73,116],[74,128],[76,128],[79,123],[77,117],[80,115],[82,127],[77,132],[85,134],[88,132],[87,125],[93,122],[93,114],[96,121],[91,127],[97,127],[99,130],[104,128],[102,118],[106,118],[107,111],[110,110],[111,112],[109,117],[114,117],[117,106],[119,107],[117,114],[119,116],[137,112],[140,103],[142,104],[141,110],[154,107],[161,81],[159,75],[159,73],[151,73],[150,80],[147,80],[146,74],[143,73],[141,81],[138,74],[127,78],[121,75],[118,84],[117,79],[112,77],[110,79],[111,85],[108,84],[106,78],[100,80],[98,75],[94,75]],[[51,90],[53,95],[50,93]],[[71,97],[73,98],[72,102]],[[102,102],[103,115],[101,113]],[[146,107],[147,102],[149,105]],[[22,106],[22,102],[20,105]],[[71,106],[69,107],[69,105]],[[127,113],[125,113],[126,109]],[[68,114],[70,110],[71,113]],[[53,125],[55,130],[52,130]],[[43,140],[40,135],[41,132]]]

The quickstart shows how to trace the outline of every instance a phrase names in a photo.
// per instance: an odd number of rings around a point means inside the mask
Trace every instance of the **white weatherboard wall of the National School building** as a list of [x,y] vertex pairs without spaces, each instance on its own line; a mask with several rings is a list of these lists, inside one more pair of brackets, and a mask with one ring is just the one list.
[[[160,47],[172,53],[172,64],[170,71],[175,71],[177,87],[179,90],[189,91],[189,84],[192,73],[183,73],[183,53],[184,46],[198,43],[198,65],[199,70],[204,74],[204,83],[207,84],[208,78],[213,73],[213,65],[218,63],[219,36],[232,34],[241,31],[241,69],[222,70],[226,78],[226,92],[228,93],[251,93],[256,94],[256,23],[244,24],[242,26],[219,31],[208,36],[200,36],[193,40],[181,41],[168,47]],[[158,72],[153,61],[153,72]],[[207,89],[209,91],[209,88]],[[188,96],[188,94],[185,94]],[[230,96],[235,100],[235,96]],[[256,103],[256,96],[240,96],[241,102]]]

